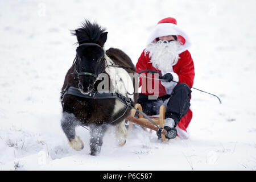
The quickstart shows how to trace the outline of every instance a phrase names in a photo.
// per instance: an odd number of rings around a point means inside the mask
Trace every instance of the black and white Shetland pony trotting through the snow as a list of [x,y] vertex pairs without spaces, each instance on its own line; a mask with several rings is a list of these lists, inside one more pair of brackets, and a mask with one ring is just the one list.
[[[97,92],[98,85],[101,83],[99,75],[105,73],[109,86],[103,88],[112,92],[122,94],[131,99],[131,105],[137,101],[137,93],[134,90],[133,77],[129,73],[135,73],[135,67],[124,52],[119,49],[110,48],[104,50],[104,44],[107,39],[108,32],[100,27],[97,23],[90,23],[86,20],[82,23],[81,28],[73,31],[76,35],[79,47],[76,49],[76,58],[73,65],[69,68],[62,92],[69,87],[75,87],[82,94]],[[110,67],[109,65],[115,65]],[[79,73],[91,73],[80,75]],[[105,80],[105,81],[107,81]],[[90,127],[90,154],[97,155],[102,146],[102,138],[109,124],[115,125],[116,136],[120,146],[123,146],[127,138],[127,130],[125,127],[125,118],[130,113],[130,108],[123,117],[120,117],[126,106],[119,100],[109,99],[92,99],[65,94],[61,98],[63,106],[63,117],[61,119],[61,127],[68,138],[69,144],[75,150],[82,150],[84,143],[76,135],[76,126]],[[117,119],[117,121],[114,121]]]

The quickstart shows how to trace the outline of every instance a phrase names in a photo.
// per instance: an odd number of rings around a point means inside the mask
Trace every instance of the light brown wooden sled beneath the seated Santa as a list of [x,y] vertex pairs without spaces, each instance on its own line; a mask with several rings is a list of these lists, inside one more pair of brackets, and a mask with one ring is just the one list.
[[[142,106],[140,104],[136,104],[134,107],[135,109],[143,111]],[[131,114],[129,115],[129,117],[126,118],[129,121],[129,128],[128,128],[129,132],[133,128],[133,123],[143,126],[144,129],[148,128],[151,130],[158,131],[158,127],[156,127],[153,123],[148,121],[148,119],[144,118],[142,114],[139,113],[139,118],[135,118],[135,113],[136,113],[135,109],[132,109]],[[163,124],[166,122],[165,114],[166,114],[166,107],[162,105],[160,106],[159,117],[150,117],[150,118],[156,123],[156,125],[159,125],[160,128],[163,128]],[[163,130],[161,134],[162,141],[166,141],[165,134],[166,134],[166,130]]]

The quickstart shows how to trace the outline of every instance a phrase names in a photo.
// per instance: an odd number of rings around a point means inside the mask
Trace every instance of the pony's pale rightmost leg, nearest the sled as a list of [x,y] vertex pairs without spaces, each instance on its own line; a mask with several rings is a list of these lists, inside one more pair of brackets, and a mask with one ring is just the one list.
[[126,143],[126,138],[128,136],[128,132],[125,127],[125,119],[115,125],[115,135],[117,136],[119,146],[123,146]]

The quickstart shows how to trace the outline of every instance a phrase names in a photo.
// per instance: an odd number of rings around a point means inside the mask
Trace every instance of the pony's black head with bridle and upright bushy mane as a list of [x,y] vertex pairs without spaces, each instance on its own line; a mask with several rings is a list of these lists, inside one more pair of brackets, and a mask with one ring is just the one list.
[[105,69],[105,51],[103,46],[108,32],[97,23],[85,20],[82,27],[72,32],[76,35],[79,47],[76,49],[76,59],[73,63],[79,78],[79,89],[89,93],[97,76]]

